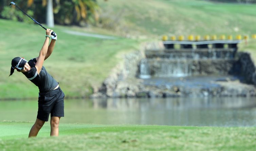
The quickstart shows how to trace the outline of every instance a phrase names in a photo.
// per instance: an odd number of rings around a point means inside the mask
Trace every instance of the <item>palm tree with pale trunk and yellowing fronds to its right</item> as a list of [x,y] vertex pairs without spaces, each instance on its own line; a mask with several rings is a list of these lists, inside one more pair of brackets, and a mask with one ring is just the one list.
[[[35,0],[27,0],[30,7]],[[99,19],[99,6],[96,0],[42,0],[42,6],[47,5],[46,23],[48,27],[54,26],[53,13],[56,14],[55,21],[60,24],[84,25],[89,16],[97,22]],[[60,7],[61,6],[61,7]]]

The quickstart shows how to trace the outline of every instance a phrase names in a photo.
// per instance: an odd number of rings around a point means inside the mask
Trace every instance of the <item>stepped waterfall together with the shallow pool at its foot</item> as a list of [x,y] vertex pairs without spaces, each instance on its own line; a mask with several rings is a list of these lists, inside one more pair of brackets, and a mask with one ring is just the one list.
[[138,73],[153,94],[168,90],[208,96],[222,90],[214,81],[239,78],[229,75],[237,62],[235,49],[146,50],[145,54]]

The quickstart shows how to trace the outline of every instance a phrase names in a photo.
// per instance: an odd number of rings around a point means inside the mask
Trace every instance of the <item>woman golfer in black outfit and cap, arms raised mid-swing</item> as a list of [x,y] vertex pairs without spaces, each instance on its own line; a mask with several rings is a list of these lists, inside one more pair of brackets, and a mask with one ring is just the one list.
[[[39,56],[27,62],[24,58],[16,57],[12,60],[11,74],[16,69],[22,72],[31,82],[39,88],[38,112],[35,124],[32,126],[29,137],[37,136],[44,122],[49,119],[51,113],[51,136],[59,135],[59,120],[64,117],[64,93],[58,82],[45,70],[43,61],[53,52],[56,37],[51,36],[51,29],[46,30],[46,39],[40,50]],[[50,36],[52,38],[49,45]]]

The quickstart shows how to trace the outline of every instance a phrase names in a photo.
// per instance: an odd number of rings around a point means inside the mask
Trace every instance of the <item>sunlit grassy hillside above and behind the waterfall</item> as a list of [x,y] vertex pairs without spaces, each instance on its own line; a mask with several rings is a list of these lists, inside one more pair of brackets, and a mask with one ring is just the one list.
[[[256,33],[256,5],[202,0],[99,1],[120,26],[145,35]],[[237,30],[238,29],[238,30]],[[135,33],[135,32],[134,32]]]

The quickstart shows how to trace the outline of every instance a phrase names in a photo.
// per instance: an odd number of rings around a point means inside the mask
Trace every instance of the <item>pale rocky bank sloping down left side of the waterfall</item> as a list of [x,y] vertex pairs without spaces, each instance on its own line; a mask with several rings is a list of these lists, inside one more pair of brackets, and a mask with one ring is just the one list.
[[162,42],[146,43],[141,50],[126,54],[124,60],[118,64],[106,78],[98,90],[94,90],[91,98],[99,97],[135,97],[142,89],[141,80],[136,78],[138,64],[145,58],[145,50],[164,49]]

